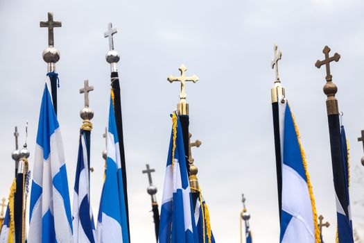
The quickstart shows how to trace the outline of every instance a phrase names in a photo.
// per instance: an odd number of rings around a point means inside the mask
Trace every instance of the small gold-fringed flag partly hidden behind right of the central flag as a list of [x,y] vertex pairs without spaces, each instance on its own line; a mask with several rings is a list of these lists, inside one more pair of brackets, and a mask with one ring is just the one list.
[[196,201],[195,221],[197,222],[196,232],[198,234],[199,242],[215,243],[214,234],[212,233],[210,226],[209,210],[207,209],[207,204],[202,196],[200,196],[200,199]]

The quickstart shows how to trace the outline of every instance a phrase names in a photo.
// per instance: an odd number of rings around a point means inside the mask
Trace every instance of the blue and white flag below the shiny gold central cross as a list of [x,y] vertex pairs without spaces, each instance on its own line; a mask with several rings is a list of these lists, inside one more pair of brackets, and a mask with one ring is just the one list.
[[159,243],[198,243],[182,128],[173,113],[159,225]]

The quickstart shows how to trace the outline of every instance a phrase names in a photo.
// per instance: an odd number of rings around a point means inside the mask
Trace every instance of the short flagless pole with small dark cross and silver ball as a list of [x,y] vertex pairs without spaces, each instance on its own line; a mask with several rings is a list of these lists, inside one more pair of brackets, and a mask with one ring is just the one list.
[[150,194],[150,199],[152,200],[152,211],[153,211],[153,219],[154,219],[154,226],[155,226],[155,237],[158,242],[158,235],[159,235],[159,208],[157,199],[155,194],[157,194],[157,187],[153,185],[152,180],[152,172],[155,172],[155,169],[150,169],[149,164],[146,164],[146,169],[141,171],[143,174],[148,175],[148,182],[149,186],[147,188],[148,194]]

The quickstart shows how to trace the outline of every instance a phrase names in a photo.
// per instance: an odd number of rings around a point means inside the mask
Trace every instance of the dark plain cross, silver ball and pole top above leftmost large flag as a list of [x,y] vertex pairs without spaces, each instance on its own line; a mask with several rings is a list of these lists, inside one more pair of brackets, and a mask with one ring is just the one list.
[[48,12],[48,21],[40,22],[41,28],[48,28],[48,47],[44,49],[42,56],[44,62],[47,63],[47,76],[51,80],[52,103],[57,114],[57,81],[58,74],[55,73],[55,63],[60,60],[60,51],[54,47],[53,28],[62,27],[62,22],[53,21],[53,12]]

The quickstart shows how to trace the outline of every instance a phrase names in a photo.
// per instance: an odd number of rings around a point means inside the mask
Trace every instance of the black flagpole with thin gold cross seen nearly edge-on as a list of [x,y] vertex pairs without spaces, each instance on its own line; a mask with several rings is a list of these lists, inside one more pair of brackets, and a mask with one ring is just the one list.
[[284,87],[281,87],[278,73],[278,61],[281,60],[281,51],[278,51],[277,44],[274,47],[275,58],[271,62],[272,68],[275,68],[275,85],[271,90],[272,97],[272,116],[273,116],[273,131],[275,135],[275,164],[277,170],[277,190],[278,190],[278,207],[279,221],[281,221],[281,191],[282,191],[282,168],[281,168],[281,135],[279,130],[279,99],[285,96]]

